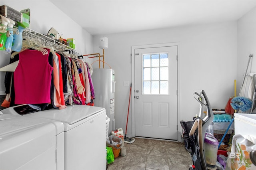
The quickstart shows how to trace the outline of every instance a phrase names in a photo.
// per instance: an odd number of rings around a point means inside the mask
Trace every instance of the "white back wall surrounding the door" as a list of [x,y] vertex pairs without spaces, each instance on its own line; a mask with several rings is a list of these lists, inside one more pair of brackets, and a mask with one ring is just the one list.
[[[131,47],[133,45],[180,42],[178,49],[179,126],[180,120],[192,120],[193,116],[199,112],[199,104],[192,97],[195,91],[200,92],[204,89],[212,108],[221,109],[224,109],[229,97],[234,95],[237,65],[236,22],[102,36],[108,38],[105,61],[115,70],[116,128],[123,128],[125,131],[130,87],[125,87],[124,81],[132,81]],[[100,36],[93,37],[94,53],[102,53],[98,47],[99,38]],[[98,65],[95,64],[93,67]],[[127,136],[132,134],[131,117],[134,113],[129,114]]]

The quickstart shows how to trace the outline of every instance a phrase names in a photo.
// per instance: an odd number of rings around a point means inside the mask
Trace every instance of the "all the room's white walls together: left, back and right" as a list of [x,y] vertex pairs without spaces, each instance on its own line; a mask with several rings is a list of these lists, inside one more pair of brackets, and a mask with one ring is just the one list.
[[[30,8],[31,29],[47,34],[53,27],[64,38],[75,38],[79,53],[102,53],[98,47],[100,36],[92,38],[88,32],[48,0],[22,0],[22,2],[1,0],[0,5],[4,4],[16,10]],[[132,45],[180,42],[178,121],[191,120],[199,111],[199,105],[192,97],[194,91],[204,89],[212,108],[224,108],[228,98],[234,95],[234,79],[238,79],[237,87],[240,87],[239,83],[242,81],[248,55],[250,53],[256,55],[255,16],[254,8],[238,20],[238,23],[227,22],[104,35],[108,37],[105,61],[116,71],[116,127],[125,130],[129,87],[124,87],[123,83],[132,80]],[[0,57],[0,67],[9,63],[9,55],[0,51]],[[92,63],[93,60],[88,61]],[[255,62],[253,59],[253,65]],[[98,67],[98,63],[94,63],[93,66]],[[108,66],[105,65],[105,67]],[[256,66],[252,67],[252,72],[256,72]],[[0,93],[5,90],[4,74],[0,73],[2,80]],[[132,114],[134,113],[130,112],[128,135],[132,133]]]

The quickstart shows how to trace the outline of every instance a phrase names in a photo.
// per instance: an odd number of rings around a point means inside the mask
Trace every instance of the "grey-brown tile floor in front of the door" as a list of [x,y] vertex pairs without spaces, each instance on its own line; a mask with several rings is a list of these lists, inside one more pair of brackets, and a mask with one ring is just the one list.
[[135,138],[124,143],[126,156],[118,156],[107,170],[188,170],[192,164],[183,143]]

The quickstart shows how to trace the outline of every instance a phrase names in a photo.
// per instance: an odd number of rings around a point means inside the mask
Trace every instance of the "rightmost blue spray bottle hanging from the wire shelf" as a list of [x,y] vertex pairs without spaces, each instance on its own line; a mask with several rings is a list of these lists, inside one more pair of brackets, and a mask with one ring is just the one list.
[[13,35],[13,45],[12,45],[12,50],[13,51],[17,51],[20,52],[21,48],[22,48],[22,32],[23,30],[25,30],[26,26],[24,26],[23,24],[21,24],[20,22],[18,22],[18,30],[19,30],[19,34],[14,34]]

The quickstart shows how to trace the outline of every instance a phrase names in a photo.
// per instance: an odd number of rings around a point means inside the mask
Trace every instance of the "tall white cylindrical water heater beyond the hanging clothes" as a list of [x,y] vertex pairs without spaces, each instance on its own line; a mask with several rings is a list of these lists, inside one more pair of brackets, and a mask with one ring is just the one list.
[[113,69],[93,69],[92,83],[94,87],[94,106],[106,109],[110,118],[108,135],[115,126],[115,71]]

